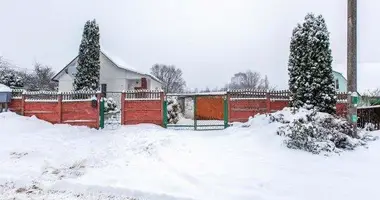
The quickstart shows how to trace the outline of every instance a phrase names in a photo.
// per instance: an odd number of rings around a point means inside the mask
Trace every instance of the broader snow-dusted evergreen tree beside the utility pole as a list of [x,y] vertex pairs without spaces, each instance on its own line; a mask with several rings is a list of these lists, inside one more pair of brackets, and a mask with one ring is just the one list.
[[307,14],[293,30],[288,65],[291,106],[335,113],[329,32],[321,15]]

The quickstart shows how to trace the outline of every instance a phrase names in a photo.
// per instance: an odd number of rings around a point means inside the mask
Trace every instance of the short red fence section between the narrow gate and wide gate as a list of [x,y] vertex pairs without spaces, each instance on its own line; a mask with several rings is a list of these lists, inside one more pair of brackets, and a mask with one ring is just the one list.
[[122,99],[122,124],[163,124],[163,91],[126,91],[122,93]]

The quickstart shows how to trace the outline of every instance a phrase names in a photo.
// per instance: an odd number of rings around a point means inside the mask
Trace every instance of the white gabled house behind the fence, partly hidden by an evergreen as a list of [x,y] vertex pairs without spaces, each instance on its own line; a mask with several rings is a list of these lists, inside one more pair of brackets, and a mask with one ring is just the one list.
[[[59,91],[68,92],[73,90],[77,65],[78,56],[52,78],[53,81],[58,82]],[[116,59],[101,51],[100,86],[102,91],[110,92],[137,89],[157,90],[162,89],[162,82],[150,74],[138,72],[127,67],[120,60],[116,62]]]

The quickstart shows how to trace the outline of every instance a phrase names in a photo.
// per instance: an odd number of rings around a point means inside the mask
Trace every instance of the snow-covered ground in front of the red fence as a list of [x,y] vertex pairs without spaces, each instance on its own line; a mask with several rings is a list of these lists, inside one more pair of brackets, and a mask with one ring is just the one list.
[[5,200],[378,199],[379,141],[312,155],[286,148],[279,124],[261,118],[222,131],[98,131],[2,113],[0,126]]

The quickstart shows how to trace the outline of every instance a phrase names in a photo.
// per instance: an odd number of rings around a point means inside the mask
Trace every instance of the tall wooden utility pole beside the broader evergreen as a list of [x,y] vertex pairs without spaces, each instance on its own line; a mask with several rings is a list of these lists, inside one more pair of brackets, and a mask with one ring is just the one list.
[[347,0],[347,89],[348,120],[357,136],[357,0]]

